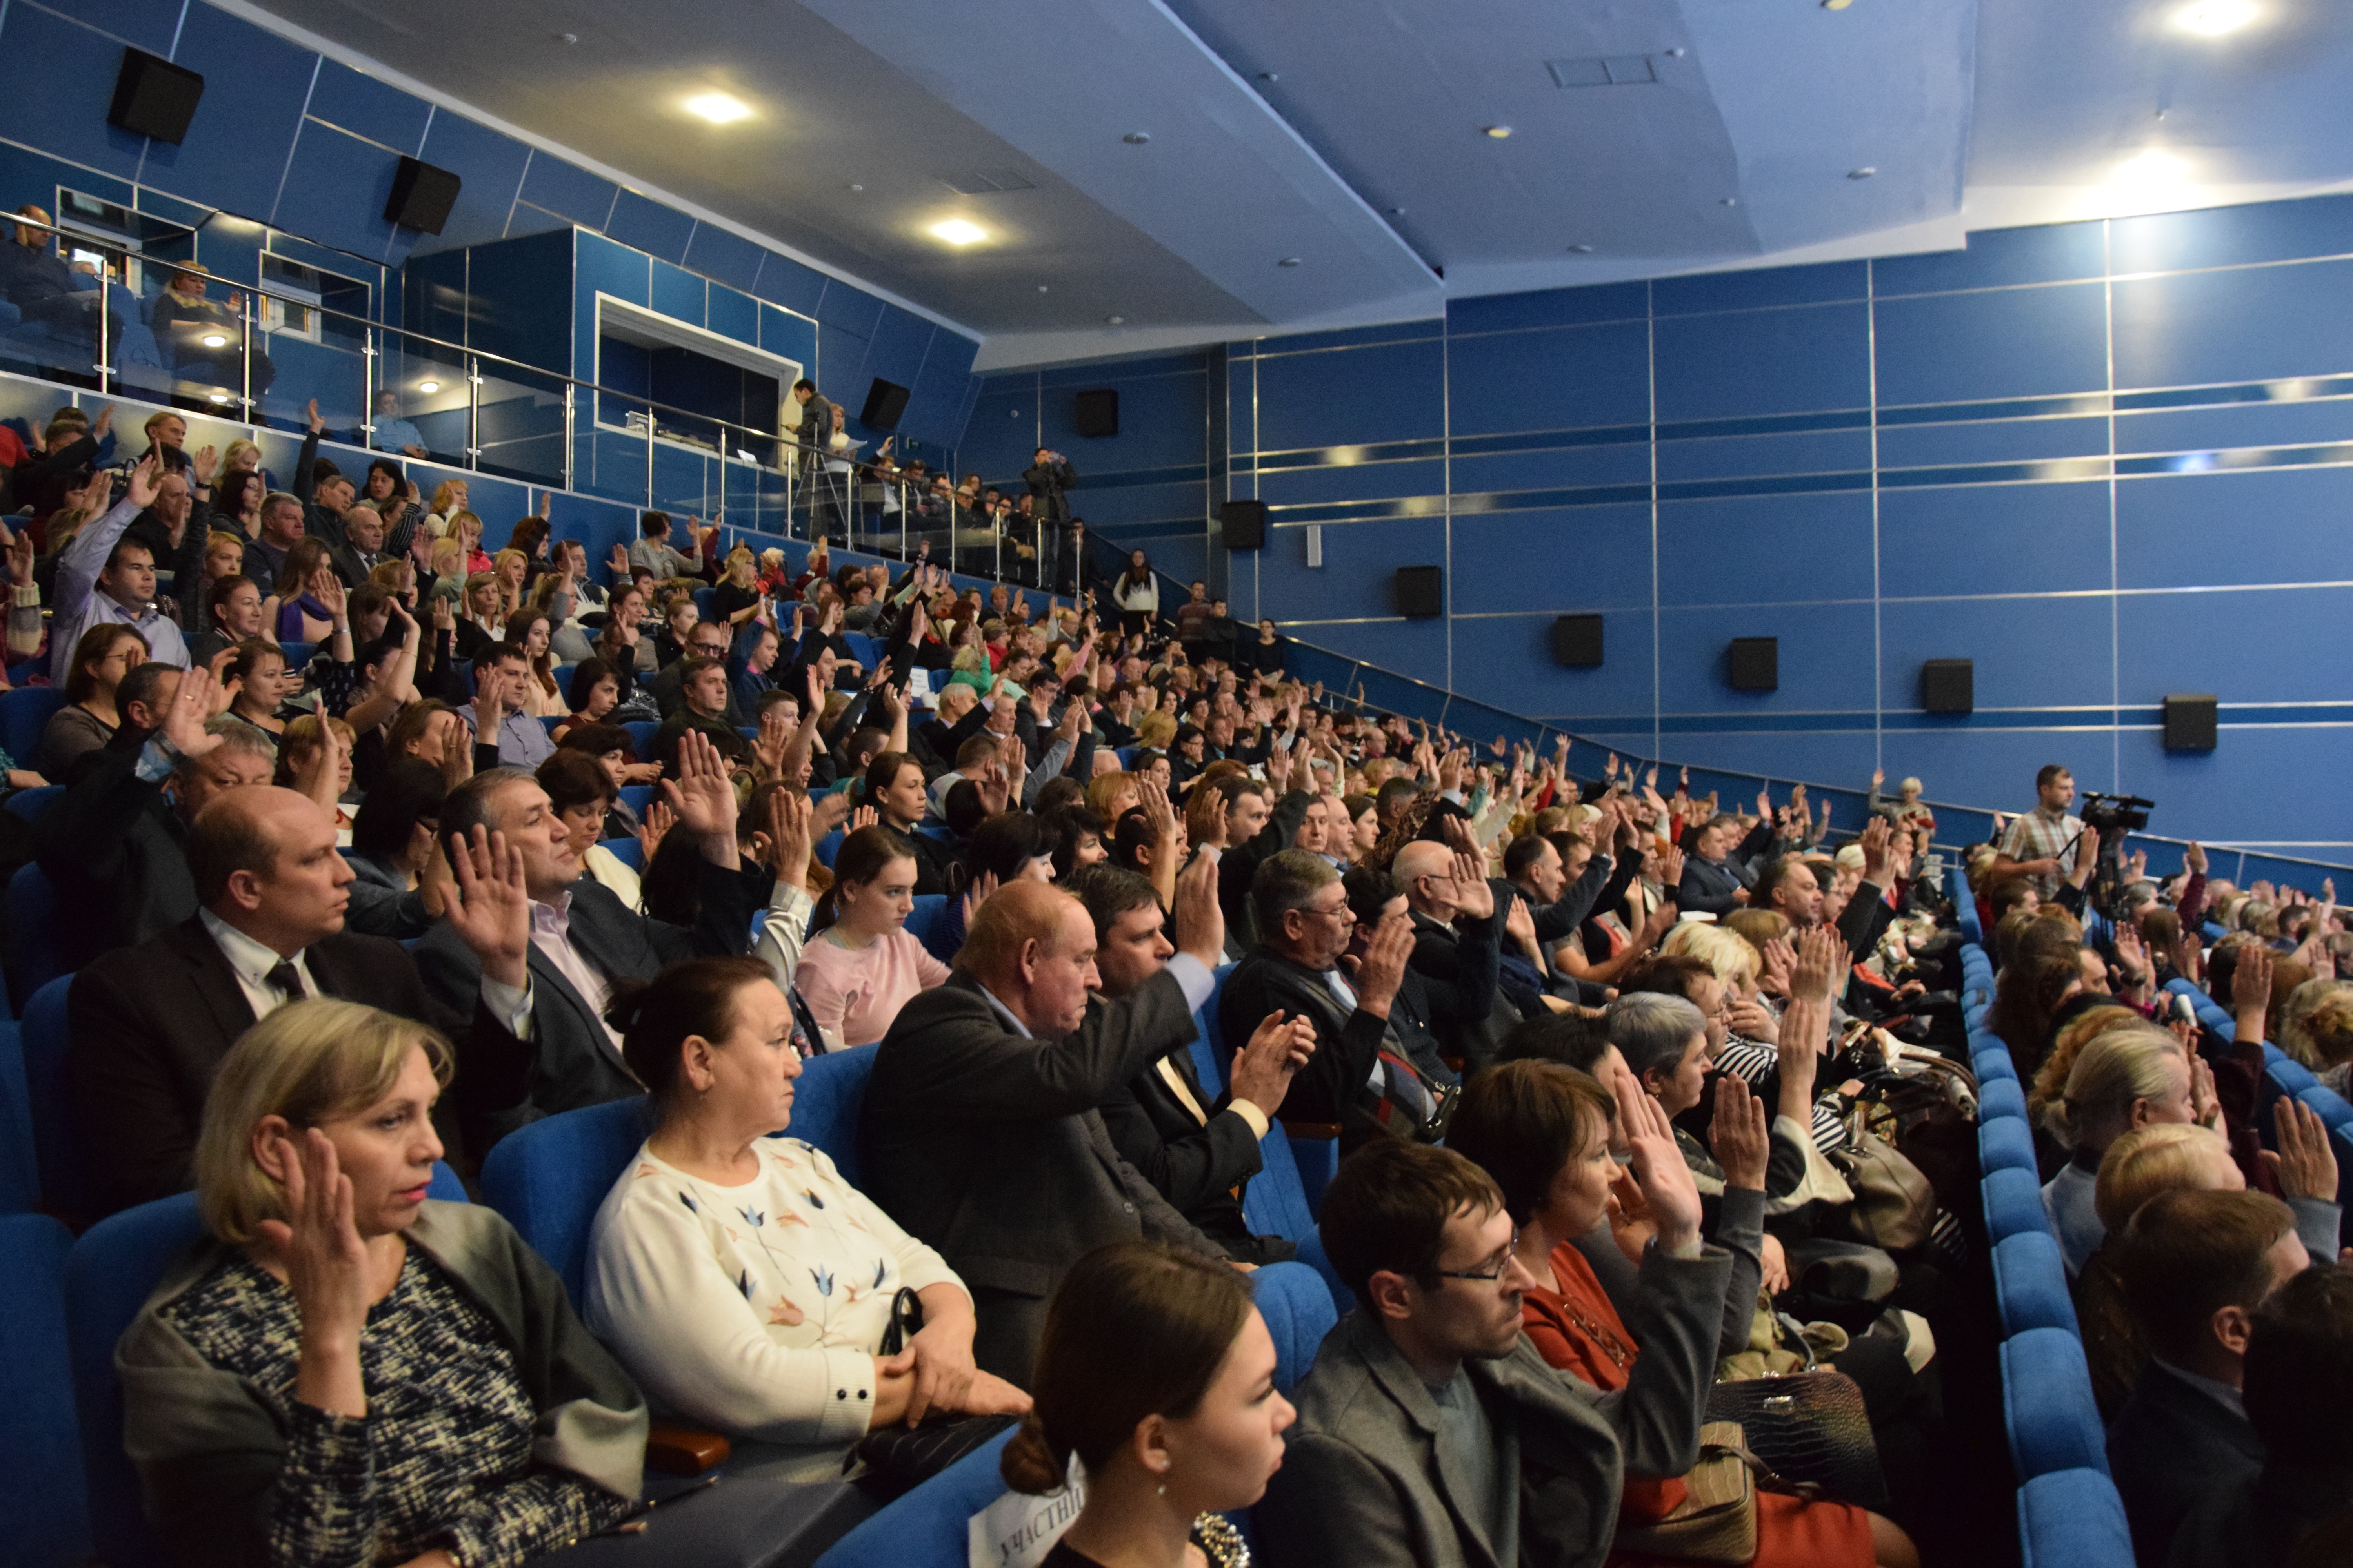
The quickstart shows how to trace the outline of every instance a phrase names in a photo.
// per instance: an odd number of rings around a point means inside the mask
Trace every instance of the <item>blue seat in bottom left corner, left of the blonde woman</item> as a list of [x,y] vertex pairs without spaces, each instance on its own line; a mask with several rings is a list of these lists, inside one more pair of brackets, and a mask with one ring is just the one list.
[[0,1516],[9,1561],[80,1568],[89,1559],[73,1356],[66,1338],[66,1253],[49,1215],[0,1218]]

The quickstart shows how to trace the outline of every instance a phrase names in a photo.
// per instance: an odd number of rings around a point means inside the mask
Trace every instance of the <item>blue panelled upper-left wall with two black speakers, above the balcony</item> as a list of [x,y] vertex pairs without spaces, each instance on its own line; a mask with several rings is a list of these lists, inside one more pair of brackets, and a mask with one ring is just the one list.
[[[871,378],[908,386],[901,447],[953,449],[962,435],[979,395],[972,376],[979,343],[958,331],[198,0],[89,0],[71,7],[73,16],[64,9],[0,2],[0,59],[14,66],[9,92],[0,94],[7,207],[28,200],[52,207],[66,186],[202,223],[198,259],[224,282],[242,284],[259,282],[268,237],[278,254],[369,282],[386,324],[586,376],[586,357],[576,371],[562,360],[569,339],[560,317],[534,334],[499,313],[402,303],[412,282],[405,263],[464,296],[464,261],[452,252],[466,249],[492,273],[478,268],[473,296],[506,303],[518,289],[546,289],[546,273],[534,268],[551,256],[569,266],[567,235],[551,230],[576,226],[593,230],[595,244],[628,247],[638,303],[774,346],[809,367],[852,416]],[[181,146],[106,125],[125,45],[205,75],[207,92]],[[402,155],[464,179],[445,233],[421,235],[384,219]],[[520,235],[551,235],[555,244],[513,247]],[[496,275],[501,261],[511,275]],[[304,397],[327,390],[287,369],[268,411],[285,418]],[[336,423],[358,414],[344,402],[353,400],[322,397]]]

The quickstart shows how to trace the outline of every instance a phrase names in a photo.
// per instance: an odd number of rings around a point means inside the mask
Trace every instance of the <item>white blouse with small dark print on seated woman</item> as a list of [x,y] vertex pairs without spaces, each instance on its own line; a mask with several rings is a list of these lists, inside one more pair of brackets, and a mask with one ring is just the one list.
[[720,1187],[649,1150],[588,1237],[586,1321],[656,1408],[774,1443],[847,1443],[873,1418],[873,1356],[899,1288],[962,1281],[824,1152],[753,1143]]

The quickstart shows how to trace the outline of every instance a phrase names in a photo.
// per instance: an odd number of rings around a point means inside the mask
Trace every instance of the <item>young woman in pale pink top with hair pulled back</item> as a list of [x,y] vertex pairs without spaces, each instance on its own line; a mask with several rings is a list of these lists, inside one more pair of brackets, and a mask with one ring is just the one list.
[[889,827],[859,827],[833,856],[833,886],[816,900],[795,990],[824,1032],[824,1051],[868,1046],[911,999],[946,985],[948,966],[906,929],[915,910],[915,856]]

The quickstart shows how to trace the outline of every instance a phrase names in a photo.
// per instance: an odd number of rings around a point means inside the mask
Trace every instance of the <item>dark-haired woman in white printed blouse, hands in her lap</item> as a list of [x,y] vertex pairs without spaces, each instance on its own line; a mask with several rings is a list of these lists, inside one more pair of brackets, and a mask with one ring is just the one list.
[[[779,1135],[800,1053],[765,964],[673,964],[619,987],[607,1018],[654,1131],[598,1208],[581,1312],[656,1408],[772,1443],[1028,1410],[974,1368],[972,1298],[939,1253]],[[922,1328],[885,1354],[901,1291]]]

